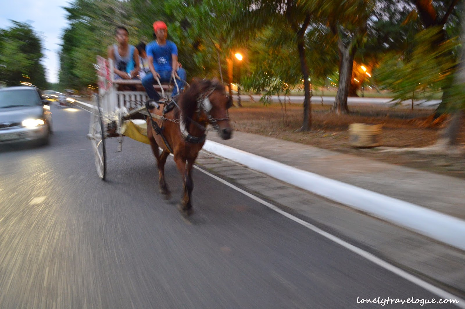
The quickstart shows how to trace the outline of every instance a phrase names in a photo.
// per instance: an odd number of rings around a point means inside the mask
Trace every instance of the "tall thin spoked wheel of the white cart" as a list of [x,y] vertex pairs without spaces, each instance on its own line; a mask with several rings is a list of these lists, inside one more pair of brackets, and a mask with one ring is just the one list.
[[95,167],[97,173],[102,180],[105,180],[106,176],[106,147],[105,147],[105,134],[104,125],[102,118],[102,110],[100,109],[100,99],[95,96],[96,106],[99,112],[91,114],[91,143],[93,148],[93,154],[95,157]]

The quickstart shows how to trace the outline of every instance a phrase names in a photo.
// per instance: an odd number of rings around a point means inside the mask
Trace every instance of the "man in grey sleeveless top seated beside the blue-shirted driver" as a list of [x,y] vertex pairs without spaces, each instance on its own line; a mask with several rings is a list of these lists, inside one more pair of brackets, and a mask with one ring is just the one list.
[[125,27],[115,30],[117,44],[108,46],[108,58],[113,60],[114,79],[134,79],[139,72],[139,52],[128,44],[129,33]]

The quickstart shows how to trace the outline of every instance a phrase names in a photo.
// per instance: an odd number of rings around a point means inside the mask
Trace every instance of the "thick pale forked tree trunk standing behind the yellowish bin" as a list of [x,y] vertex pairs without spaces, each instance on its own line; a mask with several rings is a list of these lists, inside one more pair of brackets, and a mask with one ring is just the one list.
[[347,106],[347,96],[349,94],[350,82],[352,79],[353,57],[355,54],[355,47],[347,48],[343,45],[341,39],[338,42],[340,55],[340,70],[339,70],[339,86],[336,93],[336,100],[332,105],[333,112],[345,113],[349,111]]

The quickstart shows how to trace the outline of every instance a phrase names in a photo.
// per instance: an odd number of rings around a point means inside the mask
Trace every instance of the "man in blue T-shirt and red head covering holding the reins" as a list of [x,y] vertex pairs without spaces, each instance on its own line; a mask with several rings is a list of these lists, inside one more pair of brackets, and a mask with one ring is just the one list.
[[[166,24],[163,21],[155,21],[153,30],[157,39],[146,46],[150,72],[147,72],[142,79],[142,85],[144,85],[149,98],[158,101],[160,95],[153,88],[154,76],[157,76],[160,82],[169,82],[174,75],[177,78],[179,90],[182,90],[186,84],[187,74],[186,70],[178,66],[178,48],[172,41],[166,39],[168,36]],[[174,97],[177,94],[178,89],[174,86],[171,95]]]

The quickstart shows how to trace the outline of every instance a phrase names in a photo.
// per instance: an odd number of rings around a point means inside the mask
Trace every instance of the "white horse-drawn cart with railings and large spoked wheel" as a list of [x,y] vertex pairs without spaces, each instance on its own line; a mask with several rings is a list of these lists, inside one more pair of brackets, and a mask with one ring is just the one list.
[[[99,93],[93,96],[93,104],[76,101],[75,104],[91,112],[89,133],[95,157],[95,167],[100,178],[106,177],[106,138],[117,138],[119,149],[122,150],[123,136],[149,144],[146,137],[146,101],[149,100],[145,91],[119,90],[125,86],[142,88],[140,80],[114,79],[114,66],[111,59],[97,56]],[[165,94],[173,86],[161,84],[157,79],[157,91],[162,92],[162,100],[169,101]],[[178,87],[176,80],[174,84]],[[127,87],[126,87],[127,88]],[[156,116],[154,116],[156,117]]]

